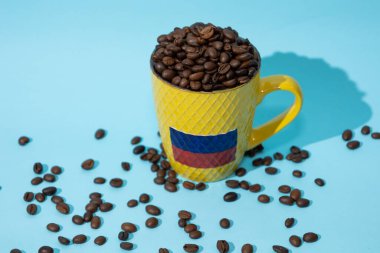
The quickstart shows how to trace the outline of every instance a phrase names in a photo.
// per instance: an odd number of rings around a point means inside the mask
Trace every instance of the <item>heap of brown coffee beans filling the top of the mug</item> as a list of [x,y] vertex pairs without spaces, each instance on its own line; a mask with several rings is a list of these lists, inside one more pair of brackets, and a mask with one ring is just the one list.
[[160,35],[151,64],[172,85],[193,91],[230,89],[259,70],[260,55],[231,27],[194,23]]

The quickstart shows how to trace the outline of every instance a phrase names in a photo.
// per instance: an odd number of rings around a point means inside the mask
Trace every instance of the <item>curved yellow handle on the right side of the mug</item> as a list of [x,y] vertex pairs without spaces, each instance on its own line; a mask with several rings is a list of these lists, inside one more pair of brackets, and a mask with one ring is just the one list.
[[302,91],[297,81],[286,75],[273,75],[261,78],[257,105],[261,103],[266,95],[277,90],[293,93],[295,100],[286,111],[272,120],[257,128],[252,128],[248,141],[248,149],[251,149],[288,125],[297,116],[302,107]]

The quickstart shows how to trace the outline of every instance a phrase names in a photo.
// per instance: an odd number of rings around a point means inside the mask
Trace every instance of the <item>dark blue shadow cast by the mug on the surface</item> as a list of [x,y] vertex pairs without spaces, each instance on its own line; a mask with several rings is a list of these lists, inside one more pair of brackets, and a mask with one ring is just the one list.
[[[360,127],[371,117],[371,109],[363,101],[364,93],[344,70],[330,66],[323,59],[275,53],[262,59],[261,70],[262,77],[274,74],[294,77],[302,88],[304,104],[289,126],[264,143],[266,149],[304,147],[340,135],[344,129]],[[292,95],[284,93],[267,96],[257,109],[255,126],[280,114],[292,103]]]

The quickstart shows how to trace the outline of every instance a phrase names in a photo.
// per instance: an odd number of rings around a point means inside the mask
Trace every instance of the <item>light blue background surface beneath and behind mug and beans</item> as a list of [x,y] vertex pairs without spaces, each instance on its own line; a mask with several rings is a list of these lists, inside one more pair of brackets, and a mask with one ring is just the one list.
[[[218,239],[233,243],[240,252],[253,243],[257,252],[271,252],[271,245],[289,246],[292,252],[379,252],[380,227],[380,142],[359,134],[364,124],[380,130],[380,86],[378,59],[380,16],[378,1],[1,1],[0,2],[0,252],[19,247],[37,252],[51,245],[57,252],[119,252],[120,224],[135,222],[134,252],[158,252],[167,247],[182,252],[192,242],[177,226],[177,212],[196,214],[194,223],[204,232],[196,241],[202,252],[216,252]],[[263,205],[257,194],[239,190],[236,203],[224,203],[223,182],[209,184],[200,192],[183,189],[165,192],[152,183],[149,166],[133,157],[130,139],[139,134],[144,143],[157,146],[149,76],[149,55],[157,35],[195,21],[230,25],[248,37],[260,50],[262,74],[287,73],[299,80],[305,95],[301,115],[284,131],[264,143],[266,152],[286,152],[297,144],[311,152],[302,164],[276,162],[281,172],[268,176],[263,169],[250,170],[250,183],[265,185],[264,192],[275,201]],[[137,43],[133,43],[136,40]],[[290,97],[273,94],[260,106],[256,122],[264,122],[283,110]],[[96,141],[94,131],[108,130]],[[340,139],[345,128],[355,129],[363,142],[349,151]],[[17,145],[20,135],[33,141]],[[99,164],[83,171],[80,164],[93,157]],[[130,172],[121,161],[133,163]],[[114,211],[100,214],[99,230],[76,226],[47,201],[39,215],[25,213],[22,200],[32,187],[32,165],[41,161],[49,167],[64,167],[56,185],[60,195],[82,214],[88,193],[101,191]],[[250,159],[243,166],[251,169]],[[293,169],[306,173],[291,176]],[[111,189],[94,185],[96,176],[122,177],[126,186]],[[327,185],[317,187],[316,177]],[[282,206],[277,187],[288,183],[299,187],[312,200],[307,209]],[[148,217],[143,206],[134,209],[126,202],[142,192],[153,196],[163,208],[162,224],[144,227]],[[285,218],[297,224],[285,229]],[[222,217],[233,220],[222,230]],[[72,237],[85,233],[91,241],[106,235],[103,247],[92,242],[60,246],[57,235],[45,226],[57,222],[60,234]],[[321,235],[314,244],[290,247],[292,234],[314,231]]]

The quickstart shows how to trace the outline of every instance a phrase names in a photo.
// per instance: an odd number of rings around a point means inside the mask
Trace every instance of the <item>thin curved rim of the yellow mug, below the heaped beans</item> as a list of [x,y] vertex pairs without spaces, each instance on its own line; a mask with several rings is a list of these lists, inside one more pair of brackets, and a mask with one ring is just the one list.
[[[252,45],[253,46],[253,45]],[[243,88],[244,86],[248,85],[249,83],[251,83],[251,81],[253,79],[256,78],[256,76],[258,76],[260,74],[260,69],[261,69],[261,56],[260,56],[260,53],[259,51],[257,50],[257,48],[255,46],[253,46],[255,48],[255,51],[257,52],[258,56],[259,56],[259,65],[258,65],[258,68],[257,68],[257,71],[256,73],[248,80],[248,82],[244,83],[244,84],[241,84],[241,85],[238,85],[236,87],[233,87],[233,88],[230,88],[230,89],[224,89],[224,90],[214,90],[214,91],[194,91],[194,90],[189,90],[189,89],[185,89],[185,88],[181,88],[177,85],[174,85],[168,81],[166,81],[165,79],[163,79],[160,75],[157,74],[156,70],[154,69],[153,67],[153,59],[152,59],[152,55],[154,53],[155,50],[153,50],[153,53],[151,54],[151,57],[150,57],[150,69],[153,73],[153,75],[155,77],[157,77],[159,80],[161,80],[165,85],[169,85],[170,87],[174,88],[174,89],[178,89],[178,90],[181,90],[181,91],[184,91],[184,92],[189,92],[189,93],[198,93],[198,94],[216,94],[216,93],[223,93],[223,92],[230,92],[230,91],[234,91],[234,90],[237,90],[237,89],[240,89],[240,88]]]

